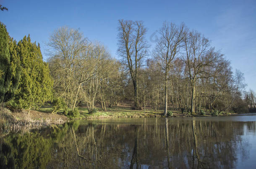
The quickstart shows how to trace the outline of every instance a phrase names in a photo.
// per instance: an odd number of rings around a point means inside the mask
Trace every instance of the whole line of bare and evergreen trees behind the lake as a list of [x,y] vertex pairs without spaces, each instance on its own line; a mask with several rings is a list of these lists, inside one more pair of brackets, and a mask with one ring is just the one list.
[[[50,101],[60,109],[76,111],[95,103],[102,110],[120,101],[134,109],[150,107],[244,113],[255,111],[253,91],[243,91],[243,73],[232,72],[230,61],[211,46],[210,40],[184,24],[163,23],[157,44],[149,51],[142,21],[118,20],[118,55],[91,43],[83,33],[61,27],[50,35],[49,59],[42,60],[39,44],[30,36],[18,43],[5,25],[0,28],[0,101],[13,109],[31,109]],[[65,111],[66,112],[66,111]]]

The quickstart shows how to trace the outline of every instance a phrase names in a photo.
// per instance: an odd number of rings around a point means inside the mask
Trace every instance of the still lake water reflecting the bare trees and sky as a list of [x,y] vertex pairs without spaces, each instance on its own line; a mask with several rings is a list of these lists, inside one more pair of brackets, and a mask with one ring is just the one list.
[[256,116],[75,121],[0,139],[2,168],[256,168]]

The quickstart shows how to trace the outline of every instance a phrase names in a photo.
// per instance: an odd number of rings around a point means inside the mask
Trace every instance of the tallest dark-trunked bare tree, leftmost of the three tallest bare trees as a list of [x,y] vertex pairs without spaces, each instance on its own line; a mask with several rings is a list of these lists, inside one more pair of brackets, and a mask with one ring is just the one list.
[[147,29],[142,21],[118,20],[118,54],[129,69],[134,90],[134,108],[139,109],[138,71],[149,47],[145,35]]

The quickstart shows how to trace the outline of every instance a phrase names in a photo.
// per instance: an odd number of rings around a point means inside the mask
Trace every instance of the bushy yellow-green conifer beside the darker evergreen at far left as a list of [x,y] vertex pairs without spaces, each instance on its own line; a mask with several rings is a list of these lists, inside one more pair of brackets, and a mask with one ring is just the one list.
[[39,45],[31,43],[29,36],[18,42],[17,49],[21,60],[21,79],[10,106],[26,109],[41,106],[52,97],[53,80],[48,65],[42,60]]

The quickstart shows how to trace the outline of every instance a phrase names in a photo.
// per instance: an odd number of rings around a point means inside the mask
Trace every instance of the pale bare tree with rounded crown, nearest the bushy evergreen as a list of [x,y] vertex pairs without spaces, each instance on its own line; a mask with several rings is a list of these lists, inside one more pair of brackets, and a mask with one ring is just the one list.
[[80,56],[86,50],[87,40],[78,30],[61,27],[50,35],[47,45],[55,92],[72,108],[76,104],[74,101],[81,84],[75,76],[76,68]]

